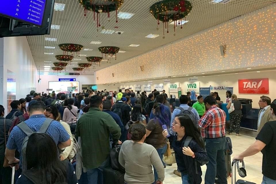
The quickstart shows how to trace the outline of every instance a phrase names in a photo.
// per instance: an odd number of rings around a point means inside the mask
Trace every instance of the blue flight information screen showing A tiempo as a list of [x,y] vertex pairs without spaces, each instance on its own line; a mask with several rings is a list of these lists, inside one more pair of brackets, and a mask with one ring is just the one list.
[[4,0],[0,14],[21,22],[41,26],[46,0]]

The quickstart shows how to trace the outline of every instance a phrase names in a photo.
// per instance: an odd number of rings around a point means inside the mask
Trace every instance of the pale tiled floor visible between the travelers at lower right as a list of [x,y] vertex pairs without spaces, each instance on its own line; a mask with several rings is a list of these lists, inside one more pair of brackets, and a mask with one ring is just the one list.
[[[228,136],[228,135],[227,135]],[[249,137],[246,135],[230,135],[233,145],[233,154],[231,155],[231,159],[246,150],[252,143],[255,142],[254,137]],[[262,154],[258,153],[254,156],[246,157],[244,159],[245,168],[247,177],[243,178],[246,181],[254,182],[260,184],[262,182]],[[165,180],[164,184],[182,184],[181,177],[173,174],[173,170],[177,169],[177,165],[173,164],[173,166],[167,166],[165,168]],[[204,177],[206,172],[206,165],[202,166],[202,183],[204,183]],[[241,179],[241,177],[237,174],[237,180]],[[228,177],[228,183],[231,183],[231,177]]]

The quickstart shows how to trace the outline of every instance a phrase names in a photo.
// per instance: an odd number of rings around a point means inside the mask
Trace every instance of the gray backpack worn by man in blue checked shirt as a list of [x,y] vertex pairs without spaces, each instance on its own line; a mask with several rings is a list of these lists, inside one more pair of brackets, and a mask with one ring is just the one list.
[[[41,128],[39,129],[39,131],[37,133],[46,133],[49,125],[51,124],[51,122],[53,121],[53,119],[50,118],[46,118],[46,120],[43,122]],[[27,136],[24,138],[23,143],[22,143],[22,157],[21,157],[21,162],[22,162],[22,171],[26,171],[27,170],[27,160],[26,160],[26,148],[27,148],[27,143],[29,140],[30,135],[32,135],[32,133],[34,133],[29,127],[28,125],[26,125],[26,123],[23,121],[20,124],[17,125]]]

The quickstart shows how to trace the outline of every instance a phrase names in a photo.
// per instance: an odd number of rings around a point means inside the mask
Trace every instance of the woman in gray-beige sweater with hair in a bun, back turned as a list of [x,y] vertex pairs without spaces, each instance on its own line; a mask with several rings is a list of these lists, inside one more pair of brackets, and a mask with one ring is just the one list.
[[[124,182],[143,184],[162,184],[165,178],[163,164],[156,149],[144,143],[146,129],[143,124],[134,124],[130,130],[131,140],[124,141],[119,153],[119,162],[126,170]],[[158,179],[152,173],[152,165],[156,168]]]

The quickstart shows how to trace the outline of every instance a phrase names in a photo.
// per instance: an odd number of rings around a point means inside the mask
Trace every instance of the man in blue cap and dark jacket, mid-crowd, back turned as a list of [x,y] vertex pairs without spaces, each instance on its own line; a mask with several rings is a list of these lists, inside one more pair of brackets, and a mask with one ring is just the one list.
[[122,141],[127,140],[127,129],[125,128],[125,126],[130,120],[130,113],[131,113],[131,107],[128,104],[126,104],[126,101],[127,101],[127,98],[122,97],[121,100],[118,101],[118,103],[114,104],[114,106],[112,107],[113,112],[118,112],[118,109],[120,109],[121,111],[122,117],[120,118],[124,125],[124,132],[122,133],[122,136],[121,136]]

